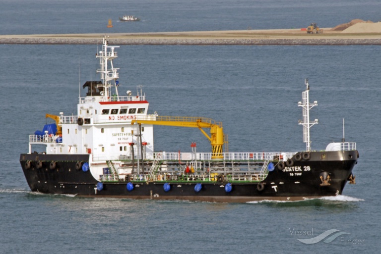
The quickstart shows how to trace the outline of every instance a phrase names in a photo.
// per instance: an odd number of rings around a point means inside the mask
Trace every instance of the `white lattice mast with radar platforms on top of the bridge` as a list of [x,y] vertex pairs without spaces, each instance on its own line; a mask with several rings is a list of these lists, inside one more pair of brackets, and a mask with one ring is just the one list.
[[[113,65],[113,59],[117,58],[117,52],[115,51],[115,48],[119,48],[119,46],[108,46],[108,40],[106,39],[106,36],[103,37],[103,45],[102,45],[102,51],[99,51],[97,53],[97,58],[99,58],[100,62],[100,69],[97,69],[97,73],[101,73],[101,79],[103,81],[103,87],[104,87],[104,98],[103,101],[111,101],[112,98],[110,97],[111,94],[111,87],[115,86],[115,92],[117,95],[117,101],[119,101],[119,94],[118,94],[118,81],[119,68],[114,68]],[[110,50],[110,51],[108,51]],[[110,62],[110,66],[109,66]],[[111,84],[111,81],[114,80],[114,84]]]

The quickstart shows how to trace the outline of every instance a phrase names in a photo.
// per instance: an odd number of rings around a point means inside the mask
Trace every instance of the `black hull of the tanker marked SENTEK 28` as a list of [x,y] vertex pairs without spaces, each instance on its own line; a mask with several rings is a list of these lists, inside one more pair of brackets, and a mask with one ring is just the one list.
[[[153,200],[190,200],[207,202],[250,202],[259,200],[304,200],[342,194],[348,177],[357,163],[357,151],[311,152],[311,158],[294,161],[292,166],[278,166],[268,173],[263,186],[258,182],[232,182],[232,190],[225,191],[228,183],[201,182],[201,190],[196,192],[193,182],[177,181],[131,181],[133,190],[127,190],[127,182],[103,182],[102,190],[97,190],[97,181],[89,171],[76,169],[78,161],[86,162],[89,154],[54,155],[21,154],[20,163],[26,180],[33,192],[46,194],[68,194],[83,197],[113,197]],[[30,168],[26,162],[31,161]],[[37,162],[42,167],[37,168]],[[54,169],[50,163],[56,162]],[[329,181],[324,184],[324,178]],[[323,176],[323,179],[321,179]],[[164,184],[170,190],[164,190]],[[263,188],[260,188],[263,187]]]

